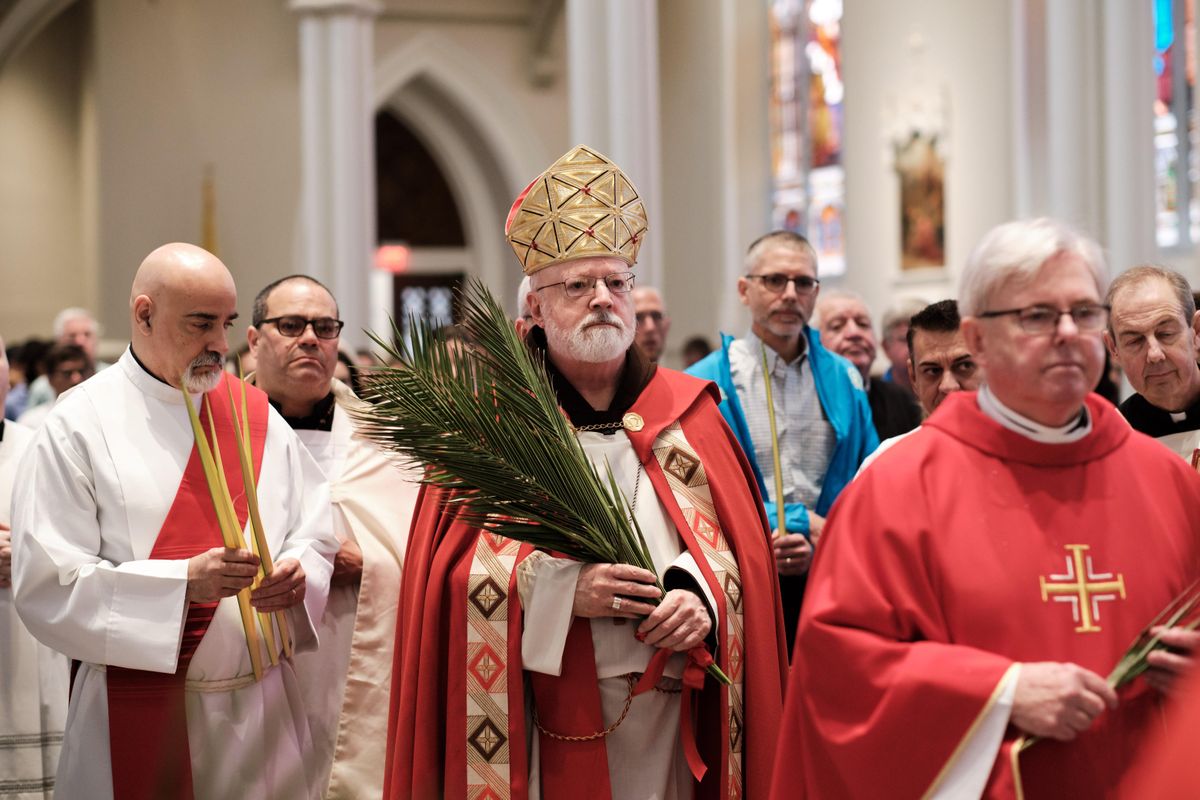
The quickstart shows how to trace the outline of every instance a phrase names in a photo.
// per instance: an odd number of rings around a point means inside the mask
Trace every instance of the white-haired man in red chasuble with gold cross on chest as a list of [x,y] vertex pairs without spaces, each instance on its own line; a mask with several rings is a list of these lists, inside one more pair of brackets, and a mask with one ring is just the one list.
[[971,254],[961,329],[986,383],[834,509],[773,796],[1102,798],[1159,724],[1187,654],[1156,654],[1154,685],[1105,676],[1198,575],[1200,476],[1092,393],[1105,283],[1096,242],[1052,219]]

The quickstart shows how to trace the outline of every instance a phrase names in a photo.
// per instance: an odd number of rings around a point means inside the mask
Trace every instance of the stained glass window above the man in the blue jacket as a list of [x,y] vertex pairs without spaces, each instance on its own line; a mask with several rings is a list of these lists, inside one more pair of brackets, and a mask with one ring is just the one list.
[[822,276],[846,271],[842,0],[772,0],[772,223],[805,235]]

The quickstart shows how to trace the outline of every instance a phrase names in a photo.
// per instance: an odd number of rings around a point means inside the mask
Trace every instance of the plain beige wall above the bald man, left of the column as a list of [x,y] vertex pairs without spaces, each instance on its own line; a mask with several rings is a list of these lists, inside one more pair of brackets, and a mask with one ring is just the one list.
[[[138,264],[199,242],[205,164],[239,309],[294,271],[299,203],[296,19],[283,2],[106,0],[95,24],[101,314],[127,327]],[[241,326],[238,329],[241,336]]]

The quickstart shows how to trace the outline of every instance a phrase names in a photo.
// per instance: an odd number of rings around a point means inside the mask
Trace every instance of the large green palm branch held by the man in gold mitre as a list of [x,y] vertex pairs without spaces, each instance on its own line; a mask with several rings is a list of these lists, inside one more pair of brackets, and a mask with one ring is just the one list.
[[544,359],[481,282],[472,279],[460,301],[475,349],[418,319],[407,347],[395,325],[391,342],[370,333],[398,366],[372,369],[371,404],[352,410],[359,429],[425,464],[424,481],[448,489],[467,524],[578,561],[656,573],[612,469],[601,475],[558,408]]

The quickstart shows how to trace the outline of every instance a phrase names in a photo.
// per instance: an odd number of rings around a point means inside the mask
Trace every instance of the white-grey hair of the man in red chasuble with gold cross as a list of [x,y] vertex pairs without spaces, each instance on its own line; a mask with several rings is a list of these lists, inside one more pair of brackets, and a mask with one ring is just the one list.
[[1038,217],[997,225],[976,245],[959,284],[959,312],[973,317],[985,311],[997,288],[1013,279],[1031,279],[1060,253],[1082,259],[1096,281],[1097,294],[1104,295],[1108,266],[1100,246],[1063,222]]

